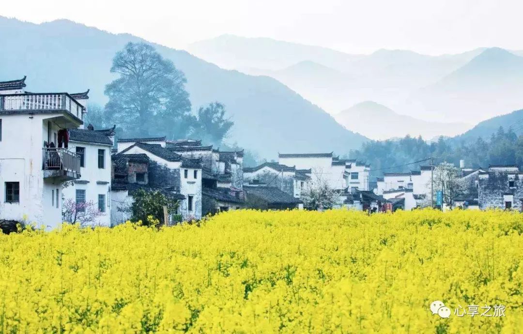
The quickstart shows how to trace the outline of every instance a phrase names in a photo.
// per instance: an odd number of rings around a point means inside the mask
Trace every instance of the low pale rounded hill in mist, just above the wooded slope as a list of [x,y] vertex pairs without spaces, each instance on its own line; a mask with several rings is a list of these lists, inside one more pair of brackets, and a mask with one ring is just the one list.
[[373,101],[365,101],[336,114],[338,123],[349,130],[358,129],[361,134],[373,140],[404,137],[406,134],[425,140],[435,136],[453,136],[470,128],[462,123],[439,123],[415,119],[396,113]]

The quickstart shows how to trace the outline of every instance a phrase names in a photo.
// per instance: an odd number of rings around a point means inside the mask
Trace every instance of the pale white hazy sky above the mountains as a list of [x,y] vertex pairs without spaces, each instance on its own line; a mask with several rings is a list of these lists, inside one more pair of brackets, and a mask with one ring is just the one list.
[[35,23],[67,18],[175,48],[231,33],[349,53],[521,50],[521,13],[521,0],[25,0],[0,6],[2,16]]

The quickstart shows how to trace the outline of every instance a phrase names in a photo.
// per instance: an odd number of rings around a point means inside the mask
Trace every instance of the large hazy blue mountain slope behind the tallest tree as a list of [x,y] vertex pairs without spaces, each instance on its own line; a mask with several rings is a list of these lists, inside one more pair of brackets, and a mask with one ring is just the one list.
[[[69,20],[36,25],[0,17],[0,31],[2,45],[16,45],[2,54],[0,80],[27,75],[32,91],[90,88],[89,102],[102,104],[105,85],[116,77],[109,72],[115,53],[129,41],[144,41]],[[278,151],[343,154],[368,140],[274,78],[223,70],[186,51],[151,44],[185,73],[193,108],[224,103],[235,123],[229,141],[261,157],[276,157]]]

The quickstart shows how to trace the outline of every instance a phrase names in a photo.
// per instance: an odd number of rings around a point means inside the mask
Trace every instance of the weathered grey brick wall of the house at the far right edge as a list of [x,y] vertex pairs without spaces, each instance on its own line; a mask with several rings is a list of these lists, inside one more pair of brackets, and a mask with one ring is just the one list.
[[[514,180],[514,187],[509,187],[509,179]],[[513,195],[513,208],[520,208],[519,199],[523,198],[521,175],[502,171],[491,171],[488,175],[480,175],[478,188],[480,209],[505,209],[505,194]]]

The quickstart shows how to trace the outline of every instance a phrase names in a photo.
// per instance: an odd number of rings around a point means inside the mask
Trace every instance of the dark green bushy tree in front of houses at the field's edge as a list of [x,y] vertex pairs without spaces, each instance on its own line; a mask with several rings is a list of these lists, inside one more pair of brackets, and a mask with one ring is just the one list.
[[[179,202],[159,190],[145,191],[138,189],[133,194],[134,202],[127,210],[131,212],[131,220],[142,221],[143,225],[161,225],[164,221],[163,206],[167,206],[167,213],[172,215],[178,210]],[[152,217],[150,217],[152,216]],[[152,218],[152,219],[151,219]]]

